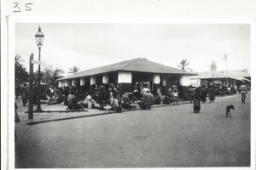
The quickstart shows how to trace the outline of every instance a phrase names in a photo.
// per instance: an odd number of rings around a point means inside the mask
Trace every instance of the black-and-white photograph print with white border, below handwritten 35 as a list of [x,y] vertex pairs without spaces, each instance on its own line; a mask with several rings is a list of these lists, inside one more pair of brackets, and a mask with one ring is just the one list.
[[252,166],[251,22],[11,26],[15,168]]

